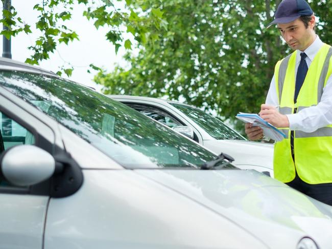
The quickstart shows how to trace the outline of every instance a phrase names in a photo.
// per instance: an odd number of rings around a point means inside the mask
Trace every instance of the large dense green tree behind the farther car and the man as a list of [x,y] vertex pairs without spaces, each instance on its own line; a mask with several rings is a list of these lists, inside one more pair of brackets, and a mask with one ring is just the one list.
[[[150,7],[159,2],[150,1]],[[162,1],[168,29],[137,56],[126,55],[129,69],[117,66],[114,72],[99,72],[95,81],[104,85],[107,94],[184,99],[235,122],[238,111],[260,109],[275,63],[291,52],[276,28],[265,28],[280,2]],[[317,32],[328,42],[331,1],[312,2],[321,17]],[[321,30],[322,24],[329,28]]]

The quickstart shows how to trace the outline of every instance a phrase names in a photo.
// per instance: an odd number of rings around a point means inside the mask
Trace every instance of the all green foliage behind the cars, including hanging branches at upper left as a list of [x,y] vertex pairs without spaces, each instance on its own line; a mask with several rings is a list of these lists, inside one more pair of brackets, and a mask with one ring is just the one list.
[[[5,0],[2,0],[4,3]],[[117,4],[124,3],[123,8]],[[290,49],[279,31],[265,27],[281,0],[42,0],[34,6],[36,24],[27,24],[11,7],[0,19],[7,38],[29,34],[31,25],[41,36],[29,47],[26,62],[47,60],[61,43],[79,40],[66,27],[75,4],[94,21],[107,27],[105,39],[124,46],[128,66],[113,72],[90,65],[94,80],[106,94],[129,94],[180,100],[217,114],[243,131],[234,118],[239,111],[257,112],[265,102],[275,63]],[[309,0],[319,18],[317,34],[332,39],[332,0]],[[34,12],[34,13],[35,13]],[[123,39],[123,34],[133,39]],[[58,74],[70,76],[72,66]]]

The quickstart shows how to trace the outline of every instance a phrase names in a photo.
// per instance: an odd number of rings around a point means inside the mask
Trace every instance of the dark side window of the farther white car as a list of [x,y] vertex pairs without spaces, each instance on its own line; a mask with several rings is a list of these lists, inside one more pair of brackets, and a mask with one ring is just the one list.
[[149,105],[140,105],[140,104],[129,104],[126,105],[134,108],[135,110],[139,111],[141,114],[144,114],[158,122],[167,125],[168,127],[176,127],[182,125],[178,120],[168,114],[166,111],[161,110],[159,108],[149,106]]

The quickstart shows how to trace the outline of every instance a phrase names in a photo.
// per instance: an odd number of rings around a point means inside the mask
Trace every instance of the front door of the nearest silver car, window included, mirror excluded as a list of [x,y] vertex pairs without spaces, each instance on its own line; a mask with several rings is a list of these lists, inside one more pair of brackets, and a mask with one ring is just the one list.
[[[49,126],[15,104],[1,87],[0,103],[0,156],[21,144],[53,153],[55,135]],[[0,248],[42,248],[48,192],[45,182],[17,187],[0,176]]]

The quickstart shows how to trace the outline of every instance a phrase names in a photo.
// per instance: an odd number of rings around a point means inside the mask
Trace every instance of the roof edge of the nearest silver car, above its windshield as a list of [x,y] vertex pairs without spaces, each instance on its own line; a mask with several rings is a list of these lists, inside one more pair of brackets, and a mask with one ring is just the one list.
[[30,65],[20,61],[0,57],[0,69],[1,70],[15,70],[30,73],[48,74],[58,76],[56,73],[48,70],[41,69],[39,66]]

